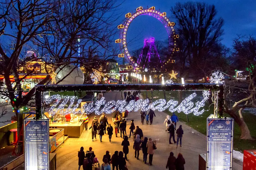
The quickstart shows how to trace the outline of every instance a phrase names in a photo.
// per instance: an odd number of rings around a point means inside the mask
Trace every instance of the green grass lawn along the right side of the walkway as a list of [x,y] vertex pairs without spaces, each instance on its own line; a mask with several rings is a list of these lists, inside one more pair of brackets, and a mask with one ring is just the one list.
[[[186,91],[186,97],[193,92],[194,91]],[[202,96],[201,91],[196,91],[196,93],[198,96]],[[147,92],[147,96],[152,101],[150,91]],[[183,92],[182,97],[183,98],[185,97],[184,92]],[[146,98],[145,91],[143,92],[143,98],[144,99]],[[157,99],[164,99],[163,91],[153,91],[153,101],[155,101]],[[170,99],[178,101],[178,91],[166,92],[166,100],[169,101]],[[199,101],[200,101],[200,99],[199,99]],[[207,117],[209,117],[210,114],[213,114],[213,105],[210,105],[210,107],[209,107],[209,104],[206,103],[206,105],[204,106],[204,109],[208,110],[208,111],[204,111],[204,113],[199,116],[195,116],[193,113],[188,114],[189,122],[187,122],[186,114],[184,114],[183,112],[177,113],[177,111],[176,111],[175,113],[179,117],[180,121],[186,123],[187,125],[191,126],[193,129],[206,135],[206,133],[207,133],[206,132],[206,130],[207,130],[206,129],[206,119],[207,119]],[[170,113],[168,109],[166,109],[164,112],[169,115],[172,115],[172,113]],[[224,116],[230,117],[228,114],[224,114]],[[243,117],[244,117],[245,123],[247,124],[247,126],[251,132],[252,137],[256,139],[256,128],[255,128],[256,127],[255,126],[256,115],[253,115],[249,112],[244,112]],[[235,150],[243,152],[243,150],[247,150],[247,149],[256,149],[256,141],[242,140],[242,139],[240,139],[240,136],[241,136],[240,128],[239,128],[238,124],[235,123],[235,126],[234,126],[234,149]]]

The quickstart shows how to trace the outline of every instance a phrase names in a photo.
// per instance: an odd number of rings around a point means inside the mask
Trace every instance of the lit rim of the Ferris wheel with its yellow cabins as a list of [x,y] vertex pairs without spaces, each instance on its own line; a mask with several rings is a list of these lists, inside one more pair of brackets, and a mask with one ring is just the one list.
[[120,29],[120,37],[119,39],[115,40],[115,43],[119,43],[121,48],[121,54],[118,54],[118,57],[126,57],[133,65],[137,65],[137,63],[133,60],[131,54],[129,53],[127,47],[127,31],[131,22],[139,15],[149,15],[155,17],[160,22],[162,22],[164,27],[166,27],[166,31],[168,33],[168,42],[169,47],[171,48],[170,50],[172,50],[172,53],[174,53],[175,51],[179,51],[179,48],[176,47],[176,39],[179,38],[179,35],[175,34],[175,23],[171,22],[170,19],[166,17],[166,12],[161,13],[160,11],[155,10],[155,7],[150,7],[147,9],[143,9],[143,7],[138,7],[135,13],[127,13],[125,15],[124,23],[117,26],[117,28]]

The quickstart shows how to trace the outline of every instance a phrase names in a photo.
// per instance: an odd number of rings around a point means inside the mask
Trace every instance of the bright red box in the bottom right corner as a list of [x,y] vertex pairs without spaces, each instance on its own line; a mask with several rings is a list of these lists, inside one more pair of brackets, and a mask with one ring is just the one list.
[[256,169],[256,150],[244,150],[243,170]]

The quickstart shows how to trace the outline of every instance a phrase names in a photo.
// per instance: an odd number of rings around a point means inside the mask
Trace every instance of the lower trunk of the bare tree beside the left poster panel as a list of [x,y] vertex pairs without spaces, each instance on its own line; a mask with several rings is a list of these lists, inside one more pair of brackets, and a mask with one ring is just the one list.
[[[22,113],[18,113],[17,110],[15,110],[16,112],[16,117],[17,117],[17,133],[18,133],[18,137],[19,134],[23,133],[23,129],[22,129],[22,124],[23,124],[23,114]],[[18,142],[18,150],[17,150],[17,155],[21,155],[23,154],[23,135],[20,136],[20,139],[18,138],[18,141],[22,141],[22,142]]]

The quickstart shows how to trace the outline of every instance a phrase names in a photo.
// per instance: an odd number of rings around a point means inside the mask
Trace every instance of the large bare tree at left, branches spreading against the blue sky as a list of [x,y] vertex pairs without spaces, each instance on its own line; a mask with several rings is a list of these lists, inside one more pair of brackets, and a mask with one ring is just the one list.
[[[39,60],[43,63],[41,70],[46,77],[36,84],[50,83],[57,69],[60,71],[70,64],[86,70],[98,68],[102,60],[115,55],[110,42],[115,33],[116,16],[112,14],[116,2],[12,0],[1,3],[0,75],[5,82],[0,93],[11,100],[17,116],[18,135],[23,119],[20,108],[33,101],[35,92],[32,88],[26,95],[22,94],[22,81],[36,74],[34,65],[27,69],[28,63]],[[37,51],[37,59],[36,56],[27,57],[28,49]],[[21,69],[23,67],[26,72]],[[21,153],[22,143],[19,146],[18,153]]]

